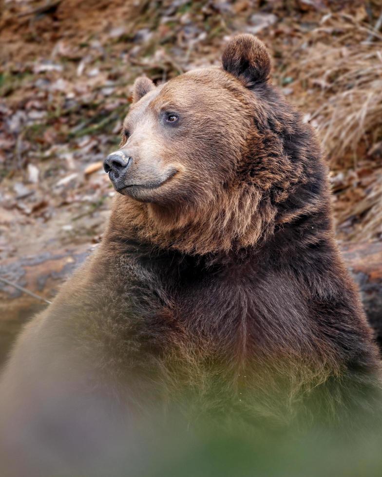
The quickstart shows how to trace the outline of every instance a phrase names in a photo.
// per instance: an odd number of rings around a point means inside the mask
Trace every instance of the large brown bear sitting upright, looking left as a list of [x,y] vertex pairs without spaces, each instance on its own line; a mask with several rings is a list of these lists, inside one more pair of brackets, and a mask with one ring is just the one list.
[[264,45],[243,35],[222,68],[135,81],[105,161],[118,194],[102,243],[2,376],[2,452],[22,449],[8,459],[20,475],[36,456],[50,471],[107,462],[152,409],[256,425],[353,419],[377,400],[320,147],[269,73]]

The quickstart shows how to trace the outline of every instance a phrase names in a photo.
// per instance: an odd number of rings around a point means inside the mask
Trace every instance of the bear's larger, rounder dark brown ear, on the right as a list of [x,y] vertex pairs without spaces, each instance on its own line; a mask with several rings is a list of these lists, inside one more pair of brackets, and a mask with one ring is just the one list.
[[223,68],[250,88],[265,83],[270,73],[270,57],[263,42],[253,35],[238,35],[227,45]]

